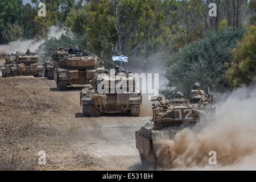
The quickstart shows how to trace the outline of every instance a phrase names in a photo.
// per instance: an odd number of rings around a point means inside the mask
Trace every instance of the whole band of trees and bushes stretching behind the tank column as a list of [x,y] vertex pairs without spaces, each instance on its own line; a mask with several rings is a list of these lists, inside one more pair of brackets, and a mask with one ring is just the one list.
[[[40,2],[46,3],[46,17],[38,16]],[[209,16],[209,3],[216,4],[216,17]],[[253,77],[253,68],[245,65],[255,58],[243,50],[254,48],[253,27],[238,48],[237,42],[245,27],[255,26],[255,5],[256,0],[31,0],[26,5],[1,0],[0,44],[44,40],[51,26],[65,27],[69,37],[51,38],[39,47],[43,59],[51,55],[46,47],[80,41],[79,48],[104,60],[128,56],[126,69],[164,65],[170,89],[188,92],[187,86],[198,81],[221,92]],[[113,65],[105,61],[104,66]]]

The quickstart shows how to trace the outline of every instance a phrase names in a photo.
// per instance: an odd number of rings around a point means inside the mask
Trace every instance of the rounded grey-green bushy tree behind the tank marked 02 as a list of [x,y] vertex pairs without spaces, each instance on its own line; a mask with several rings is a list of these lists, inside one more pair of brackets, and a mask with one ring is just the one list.
[[166,60],[165,75],[169,91],[181,91],[188,96],[189,86],[194,82],[199,82],[204,89],[210,86],[214,92],[229,89],[226,65],[231,63],[232,49],[237,47],[243,34],[245,30],[241,28],[213,31],[170,56]]

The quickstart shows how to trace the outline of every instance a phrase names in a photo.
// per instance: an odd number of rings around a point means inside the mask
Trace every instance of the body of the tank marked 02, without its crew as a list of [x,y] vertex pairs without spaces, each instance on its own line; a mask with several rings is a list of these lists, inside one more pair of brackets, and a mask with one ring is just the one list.
[[153,122],[135,132],[136,147],[141,155],[143,165],[151,169],[163,166],[156,156],[158,142],[173,140],[181,130],[195,127],[206,113],[204,109],[195,109],[194,107],[189,104],[180,104],[170,106],[168,109],[153,109]]

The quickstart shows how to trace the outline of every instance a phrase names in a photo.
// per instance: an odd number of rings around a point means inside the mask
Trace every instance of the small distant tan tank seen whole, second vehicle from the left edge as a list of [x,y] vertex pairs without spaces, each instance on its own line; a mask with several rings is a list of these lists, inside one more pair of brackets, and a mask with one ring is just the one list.
[[38,56],[35,53],[18,54],[14,59],[20,76],[43,77],[43,65],[38,64]]

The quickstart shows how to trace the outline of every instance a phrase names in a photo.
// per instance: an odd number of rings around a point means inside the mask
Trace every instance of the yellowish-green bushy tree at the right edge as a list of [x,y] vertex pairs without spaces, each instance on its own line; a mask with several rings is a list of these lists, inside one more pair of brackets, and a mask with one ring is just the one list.
[[256,26],[250,27],[233,53],[234,59],[226,72],[229,84],[233,87],[250,85],[256,76]]

